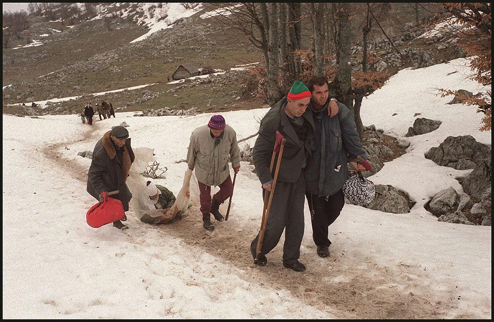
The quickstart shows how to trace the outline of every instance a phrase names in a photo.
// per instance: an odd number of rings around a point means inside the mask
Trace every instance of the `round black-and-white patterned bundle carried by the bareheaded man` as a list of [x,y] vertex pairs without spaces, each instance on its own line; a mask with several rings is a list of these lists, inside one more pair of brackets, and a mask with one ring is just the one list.
[[367,206],[375,196],[375,186],[370,180],[364,178],[362,173],[352,175],[343,185],[345,198],[359,206]]

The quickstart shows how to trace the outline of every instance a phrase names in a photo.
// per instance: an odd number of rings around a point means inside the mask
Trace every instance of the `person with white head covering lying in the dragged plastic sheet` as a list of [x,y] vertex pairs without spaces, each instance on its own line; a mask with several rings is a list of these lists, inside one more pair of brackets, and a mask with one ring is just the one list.
[[[148,206],[150,209],[148,211],[143,210],[144,215],[141,217],[141,221],[147,224],[164,224],[170,221],[165,214],[175,203],[176,198],[173,192],[163,185],[154,184],[151,181],[146,183],[145,190],[146,194],[149,196]],[[161,216],[156,216],[156,212],[160,212]]]

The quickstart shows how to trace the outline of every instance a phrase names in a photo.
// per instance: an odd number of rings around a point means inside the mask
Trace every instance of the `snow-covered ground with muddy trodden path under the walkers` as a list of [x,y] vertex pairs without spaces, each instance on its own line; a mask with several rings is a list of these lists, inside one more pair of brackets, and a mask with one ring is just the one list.
[[[411,71],[416,73],[412,76],[424,70]],[[387,87],[401,88],[393,80],[381,91]],[[419,96],[421,91],[408,93]],[[379,91],[374,95],[365,106],[379,106],[379,113],[364,124],[404,135],[407,128],[393,123],[391,114],[408,109],[390,103],[396,98],[386,100]],[[455,111],[470,126],[458,129],[448,114],[438,115],[442,132],[410,138],[407,154],[386,163],[377,174],[380,179],[372,177],[374,182],[389,178],[392,184],[402,183],[419,200],[430,191],[405,182],[420,178],[391,173],[407,158],[409,167],[424,167],[427,139],[437,146],[452,133],[490,142],[487,134],[474,131],[480,117],[474,111],[444,105],[448,98],[429,101]],[[255,119],[266,111],[222,115],[241,139],[257,131]],[[417,111],[427,117],[430,109],[417,107],[410,113]],[[85,191],[90,160],[77,152],[92,150],[103,133],[125,121],[132,146],[155,148],[157,161],[168,168],[166,179],[156,182],[177,192],[186,165],[175,162],[185,158],[192,130],[212,115],[126,117],[132,114],[118,113],[92,128],[80,124],[76,115],[3,115],[3,318],[491,317],[491,227],[438,222],[419,200],[410,214],[402,215],[346,205],[330,227],[328,259],[315,253],[306,205],[300,261],[307,271],[302,274],[283,268],[283,236],[266,267],[252,264],[248,246],[259,229],[262,200],[257,177],[245,162],[230,218],[214,222],[212,233],[202,228],[197,205],[169,225],[147,225],[130,212],[125,232],[90,228],[84,218],[95,203]],[[411,126],[412,121],[400,122]],[[450,184],[448,171],[437,175],[438,186]]]

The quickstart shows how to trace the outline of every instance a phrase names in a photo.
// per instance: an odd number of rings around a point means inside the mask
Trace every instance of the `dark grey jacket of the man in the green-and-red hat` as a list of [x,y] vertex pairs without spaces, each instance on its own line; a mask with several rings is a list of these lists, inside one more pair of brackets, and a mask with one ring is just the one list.
[[[278,103],[276,103],[262,118],[261,125],[259,127],[259,136],[255,140],[255,145],[252,149],[252,158],[254,161],[257,177],[261,184],[266,184],[273,179],[269,172],[269,165],[271,163],[271,157],[273,155],[273,147],[275,144],[276,131],[287,139],[283,150],[282,161],[280,170],[278,173],[278,180],[284,182],[297,182],[302,168],[306,162],[306,150],[310,150],[310,140],[314,136],[314,121],[312,118],[312,111],[307,109],[302,117],[309,122],[311,131],[309,131],[305,141],[301,141],[293,129],[288,116],[285,113],[285,106],[287,105],[287,97],[283,97]],[[276,167],[278,160],[276,155],[275,163]]]

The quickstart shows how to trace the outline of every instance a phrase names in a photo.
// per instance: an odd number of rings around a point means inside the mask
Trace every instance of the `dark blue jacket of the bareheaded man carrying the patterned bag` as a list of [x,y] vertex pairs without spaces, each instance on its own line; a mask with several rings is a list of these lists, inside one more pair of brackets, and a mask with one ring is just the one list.
[[316,127],[311,142],[310,157],[305,168],[307,192],[319,196],[338,192],[347,179],[347,152],[367,160],[355,121],[348,107],[338,102],[338,116],[329,117],[327,109],[315,111],[309,104],[307,111],[313,113]]

